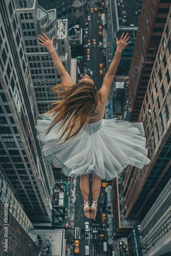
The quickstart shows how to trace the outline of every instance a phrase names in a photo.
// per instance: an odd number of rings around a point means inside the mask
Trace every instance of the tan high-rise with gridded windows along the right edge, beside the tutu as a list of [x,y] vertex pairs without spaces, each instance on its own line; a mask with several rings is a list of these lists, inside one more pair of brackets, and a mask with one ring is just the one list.
[[129,166],[126,170],[123,182],[126,218],[143,218],[171,175],[170,12],[171,7],[138,118],[144,125],[151,162],[143,169]]

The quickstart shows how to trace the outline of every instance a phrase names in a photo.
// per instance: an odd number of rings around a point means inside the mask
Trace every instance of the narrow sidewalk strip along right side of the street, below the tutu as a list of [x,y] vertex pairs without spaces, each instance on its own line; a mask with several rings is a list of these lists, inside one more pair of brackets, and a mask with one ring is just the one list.
[[[106,214],[107,214],[107,243],[109,245],[113,244],[112,234],[113,234],[113,225],[112,225],[112,219],[113,219],[113,212],[112,212],[112,200],[113,200],[113,188],[111,185],[106,186],[105,193],[107,195],[107,205],[106,205]],[[110,214],[109,212],[110,211]]]

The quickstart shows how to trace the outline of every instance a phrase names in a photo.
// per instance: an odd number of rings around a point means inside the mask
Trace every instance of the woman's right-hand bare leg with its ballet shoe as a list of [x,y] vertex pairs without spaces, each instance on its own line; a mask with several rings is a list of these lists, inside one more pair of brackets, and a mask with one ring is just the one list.
[[[101,179],[100,179],[100,177],[92,175],[92,196],[93,196],[93,201],[95,201],[94,204],[96,206],[98,205],[97,199],[100,195],[100,188],[101,188]],[[90,209],[92,211],[91,212],[91,219],[94,219],[96,217],[97,207],[95,209],[95,207],[91,206]]]

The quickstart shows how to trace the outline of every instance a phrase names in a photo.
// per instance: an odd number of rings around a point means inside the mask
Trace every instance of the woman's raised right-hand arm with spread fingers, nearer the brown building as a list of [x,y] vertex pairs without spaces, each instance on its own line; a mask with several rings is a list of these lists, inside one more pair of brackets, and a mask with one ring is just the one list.
[[[108,99],[108,97],[109,97],[109,94],[110,94],[110,91],[111,91],[112,82],[113,82],[115,73],[117,71],[119,62],[120,62],[121,53],[124,50],[124,48],[128,44],[130,44],[130,42],[131,42],[131,41],[127,42],[127,40],[130,38],[130,36],[127,37],[128,34],[129,33],[127,33],[124,36],[124,33],[122,33],[120,40],[118,40],[118,38],[116,38],[117,49],[116,49],[116,52],[115,52],[115,56],[114,56],[114,58],[113,58],[113,60],[111,62],[111,65],[109,67],[108,72],[104,76],[102,87],[99,90],[99,93],[101,94],[103,101],[106,101]],[[124,36],[124,38],[123,38],[123,36]]]

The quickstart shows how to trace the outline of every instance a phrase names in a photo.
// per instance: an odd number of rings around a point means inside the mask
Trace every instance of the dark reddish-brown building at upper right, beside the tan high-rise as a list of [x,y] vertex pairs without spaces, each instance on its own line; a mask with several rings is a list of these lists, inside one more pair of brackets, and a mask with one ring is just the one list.
[[[143,1],[129,72],[132,121],[137,121],[139,117],[166,20],[169,22],[169,8],[170,2],[167,0]],[[169,32],[169,28],[167,30]]]

